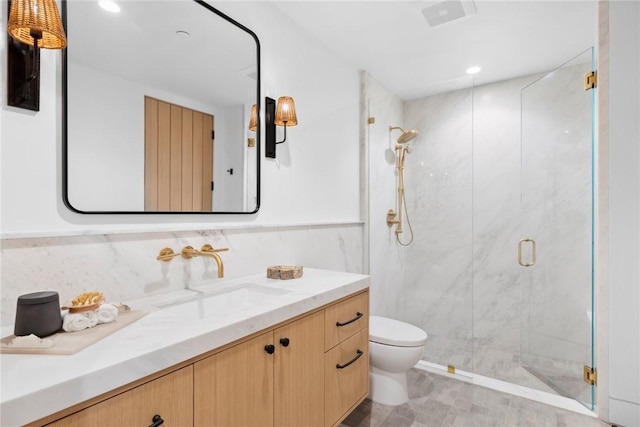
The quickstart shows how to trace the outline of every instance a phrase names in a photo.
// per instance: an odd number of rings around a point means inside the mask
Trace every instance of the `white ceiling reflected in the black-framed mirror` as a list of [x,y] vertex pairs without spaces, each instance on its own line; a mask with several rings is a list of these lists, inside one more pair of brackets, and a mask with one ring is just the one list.
[[255,103],[256,41],[200,4],[119,1],[111,13],[93,0],[66,3],[72,95],[82,66],[205,106]]

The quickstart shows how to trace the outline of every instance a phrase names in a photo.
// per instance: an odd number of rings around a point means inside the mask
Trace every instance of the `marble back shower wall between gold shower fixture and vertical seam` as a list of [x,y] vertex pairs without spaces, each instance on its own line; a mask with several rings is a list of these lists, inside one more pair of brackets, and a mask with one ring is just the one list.
[[405,163],[414,242],[406,248],[398,316],[429,335],[430,362],[472,371],[472,89],[405,103],[417,129]]

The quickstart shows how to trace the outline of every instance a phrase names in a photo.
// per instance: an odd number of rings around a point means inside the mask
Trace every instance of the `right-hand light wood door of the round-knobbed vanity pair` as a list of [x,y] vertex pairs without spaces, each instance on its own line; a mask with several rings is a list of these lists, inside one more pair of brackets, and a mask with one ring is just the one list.
[[324,312],[275,330],[274,420],[278,427],[324,426]]

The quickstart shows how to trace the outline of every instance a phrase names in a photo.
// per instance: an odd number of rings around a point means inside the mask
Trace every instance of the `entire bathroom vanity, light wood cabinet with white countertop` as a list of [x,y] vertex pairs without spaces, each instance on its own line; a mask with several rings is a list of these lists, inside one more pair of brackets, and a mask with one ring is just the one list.
[[334,426],[368,393],[368,276],[305,269],[128,302],[70,356],[6,355],[2,425]]

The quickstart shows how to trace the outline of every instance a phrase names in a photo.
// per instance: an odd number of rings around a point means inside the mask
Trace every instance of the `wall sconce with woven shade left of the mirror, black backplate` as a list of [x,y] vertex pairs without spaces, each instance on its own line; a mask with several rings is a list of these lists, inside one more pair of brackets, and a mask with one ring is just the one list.
[[55,0],[9,0],[7,104],[40,110],[40,51],[67,45]]

